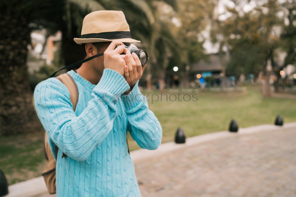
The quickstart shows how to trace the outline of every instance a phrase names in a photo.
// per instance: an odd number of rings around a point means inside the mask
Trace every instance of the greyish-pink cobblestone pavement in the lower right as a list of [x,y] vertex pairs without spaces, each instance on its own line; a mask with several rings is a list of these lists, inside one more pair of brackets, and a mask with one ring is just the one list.
[[296,196],[296,128],[217,139],[134,163],[145,196]]

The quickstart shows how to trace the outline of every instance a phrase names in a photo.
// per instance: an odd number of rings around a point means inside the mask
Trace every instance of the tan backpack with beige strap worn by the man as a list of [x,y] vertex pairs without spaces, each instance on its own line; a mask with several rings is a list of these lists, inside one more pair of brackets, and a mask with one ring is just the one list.
[[[59,79],[69,90],[70,92],[70,100],[73,105],[73,111],[75,111],[77,102],[78,102],[78,87],[72,78],[72,76],[68,73],[61,74],[59,76],[56,76],[57,79]],[[44,171],[42,172],[42,176],[44,178],[47,190],[49,194],[55,194],[56,193],[56,160],[57,160],[57,154],[59,151],[59,148],[57,145],[55,146],[55,157],[52,154],[52,151],[50,149],[50,146],[47,142],[47,133],[44,132],[44,157],[48,161],[46,166],[44,167]],[[126,139],[126,143],[128,143]],[[128,148],[129,153],[129,148]],[[67,157],[65,153],[62,154],[62,158]],[[56,158],[56,160],[54,159]]]

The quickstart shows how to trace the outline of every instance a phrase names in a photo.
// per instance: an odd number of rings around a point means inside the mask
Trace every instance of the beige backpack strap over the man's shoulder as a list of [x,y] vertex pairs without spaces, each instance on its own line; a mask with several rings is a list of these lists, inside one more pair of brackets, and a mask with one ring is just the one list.
[[58,78],[68,88],[70,92],[70,100],[73,105],[73,110],[75,111],[76,105],[78,102],[79,93],[78,93],[78,88],[74,79],[68,73],[64,73],[59,76],[56,76],[56,78]]

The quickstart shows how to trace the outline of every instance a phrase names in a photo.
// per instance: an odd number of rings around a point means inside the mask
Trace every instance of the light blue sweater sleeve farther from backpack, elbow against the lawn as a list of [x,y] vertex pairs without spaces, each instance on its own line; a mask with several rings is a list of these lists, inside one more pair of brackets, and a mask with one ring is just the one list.
[[162,128],[154,113],[148,109],[147,97],[141,94],[138,83],[139,80],[128,95],[121,96],[128,131],[141,148],[154,150],[161,143]]

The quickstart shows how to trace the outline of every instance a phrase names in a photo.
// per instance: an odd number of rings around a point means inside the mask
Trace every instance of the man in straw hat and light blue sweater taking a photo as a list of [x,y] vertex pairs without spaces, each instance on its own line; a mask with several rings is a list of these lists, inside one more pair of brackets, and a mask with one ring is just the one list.
[[[104,52],[82,64],[77,73],[67,72],[79,91],[75,112],[69,91],[55,77],[40,82],[34,91],[50,146],[59,147],[57,196],[141,196],[126,133],[141,148],[157,149],[162,128],[139,91],[146,66],[123,47],[140,41],[130,38],[121,11],[88,14],[81,38],[74,40],[85,44],[86,58]],[[114,50],[116,45],[121,46]],[[62,158],[63,153],[68,157]]]

